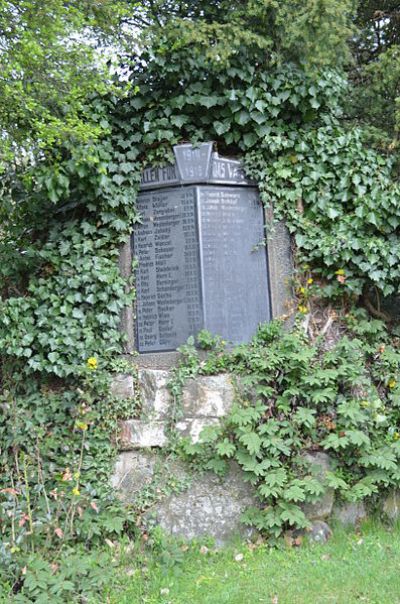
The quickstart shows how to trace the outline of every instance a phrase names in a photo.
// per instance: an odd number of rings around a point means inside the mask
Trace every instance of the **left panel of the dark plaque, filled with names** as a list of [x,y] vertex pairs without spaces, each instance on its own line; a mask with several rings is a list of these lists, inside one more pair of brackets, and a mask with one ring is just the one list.
[[173,350],[203,325],[196,190],[141,193],[138,209],[138,350]]

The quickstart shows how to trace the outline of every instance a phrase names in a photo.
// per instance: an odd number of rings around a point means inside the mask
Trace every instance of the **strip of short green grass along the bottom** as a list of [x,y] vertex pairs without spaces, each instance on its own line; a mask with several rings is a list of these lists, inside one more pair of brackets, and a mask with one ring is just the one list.
[[338,528],[325,545],[296,548],[158,549],[161,560],[125,555],[102,604],[400,604],[400,526]]

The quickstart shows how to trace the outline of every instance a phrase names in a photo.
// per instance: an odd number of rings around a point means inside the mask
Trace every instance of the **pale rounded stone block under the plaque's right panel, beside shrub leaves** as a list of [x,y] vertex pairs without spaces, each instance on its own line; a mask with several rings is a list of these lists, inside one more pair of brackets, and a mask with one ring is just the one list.
[[232,408],[235,392],[227,374],[189,380],[182,393],[185,417],[223,417]]

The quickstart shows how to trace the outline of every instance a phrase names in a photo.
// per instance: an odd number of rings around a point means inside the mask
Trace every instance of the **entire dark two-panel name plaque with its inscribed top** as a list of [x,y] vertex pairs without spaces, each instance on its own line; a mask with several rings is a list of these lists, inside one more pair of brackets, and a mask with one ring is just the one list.
[[[209,144],[193,155],[190,145],[178,150],[179,169],[147,168],[138,196],[142,223],[133,249],[139,352],[175,350],[202,328],[230,343],[247,342],[271,317],[257,189],[239,162],[212,157]],[[196,178],[196,186],[175,184]]]

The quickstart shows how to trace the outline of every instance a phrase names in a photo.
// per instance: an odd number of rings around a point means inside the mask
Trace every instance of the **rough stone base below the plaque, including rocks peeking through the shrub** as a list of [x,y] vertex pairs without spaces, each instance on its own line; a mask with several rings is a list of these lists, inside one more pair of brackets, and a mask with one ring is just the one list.
[[[139,369],[141,415],[121,422],[113,487],[124,502],[147,510],[147,525],[157,523],[172,535],[186,539],[209,536],[217,544],[235,534],[249,536],[251,531],[241,523],[241,516],[246,508],[260,502],[254,488],[244,481],[239,466],[231,462],[228,474],[220,478],[196,471],[168,455],[168,420],[175,404],[167,387],[169,378],[165,370]],[[217,424],[229,413],[241,388],[227,374],[189,380],[183,389],[176,430],[196,442],[205,426]],[[133,397],[133,382],[128,376],[116,376],[113,393]],[[326,453],[304,452],[304,458],[319,478],[332,469],[332,460]],[[387,497],[388,517],[397,516],[398,502],[397,492]],[[366,517],[362,503],[335,503],[332,490],[317,504],[303,509],[312,522],[333,518],[355,525]]]

